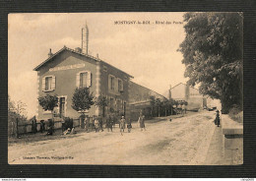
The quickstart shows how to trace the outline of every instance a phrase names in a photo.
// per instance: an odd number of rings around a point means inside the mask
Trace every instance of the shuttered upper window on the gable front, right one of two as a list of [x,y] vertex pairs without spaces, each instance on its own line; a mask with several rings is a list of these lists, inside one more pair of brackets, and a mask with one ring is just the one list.
[[92,74],[90,71],[77,73],[77,88],[89,88],[92,86]]

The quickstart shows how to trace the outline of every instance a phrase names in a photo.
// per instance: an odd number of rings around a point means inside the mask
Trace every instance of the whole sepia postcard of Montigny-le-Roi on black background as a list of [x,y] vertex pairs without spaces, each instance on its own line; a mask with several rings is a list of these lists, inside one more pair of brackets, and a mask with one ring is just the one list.
[[8,163],[243,164],[243,13],[10,13]]

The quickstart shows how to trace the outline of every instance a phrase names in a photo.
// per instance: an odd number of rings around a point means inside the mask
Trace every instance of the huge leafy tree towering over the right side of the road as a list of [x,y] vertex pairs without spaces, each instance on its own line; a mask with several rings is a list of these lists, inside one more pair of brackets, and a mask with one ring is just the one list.
[[183,54],[188,85],[220,99],[223,112],[242,109],[242,22],[240,13],[186,13]]

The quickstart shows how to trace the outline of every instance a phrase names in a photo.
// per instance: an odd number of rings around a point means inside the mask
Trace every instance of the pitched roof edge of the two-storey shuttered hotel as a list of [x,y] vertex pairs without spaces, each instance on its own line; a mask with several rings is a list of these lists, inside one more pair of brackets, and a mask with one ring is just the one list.
[[71,48],[68,48],[68,47],[66,47],[66,46],[64,46],[64,47],[61,48],[59,51],[57,51],[57,52],[54,53],[52,56],[50,56],[49,58],[47,58],[46,60],[44,60],[42,63],[40,63],[38,66],[36,66],[36,67],[33,69],[33,71],[38,71],[39,68],[41,68],[41,67],[42,67],[43,65],[45,65],[47,62],[51,61],[52,58],[54,58],[56,55],[60,54],[60,53],[63,52],[64,50],[68,50],[68,51],[71,51],[71,52],[73,52],[73,53],[77,53],[77,54],[86,56],[86,57],[91,58],[91,59],[93,59],[93,60],[95,60],[95,61],[98,61],[98,62],[104,62],[105,64],[107,64],[107,65],[109,65],[109,66],[111,66],[111,67],[113,67],[113,68],[115,68],[115,69],[121,71],[122,73],[126,74],[126,75],[129,76],[130,78],[134,78],[133,76],[131,76],[131,75],[127,74],[126,72],[123,72],[122,70],[120,70],[120,69],[118,69],[118,68],[116,68],[116,67],[114,67],[114,66],[112,66],[112,65],[110,65],[110,64],[108,64],[108,63],[106,63],[105,61],[100,60],[99,58],[96,58],[96,57],[94,57],[94,56],[92,56],[92,55],[88,55],[88,54],[85,54],[85,53],[82,53],[82,52],[79,52],[79,51],[76,51],[76,50],[71,49]]

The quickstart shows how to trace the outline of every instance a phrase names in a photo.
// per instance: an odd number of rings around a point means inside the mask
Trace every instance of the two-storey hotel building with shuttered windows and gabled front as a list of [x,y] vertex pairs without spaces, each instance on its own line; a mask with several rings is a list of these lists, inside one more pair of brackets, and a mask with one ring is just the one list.
[[[132,76],[107,64],[97,57],[82,53],[80,48],[64,46],[33,69],[37,72],[37,94],[58,96],[54,114],[59,117],[78,118],[80,113],[72,108],[76,88],[88,87],[95,97],[107,98],[105,112],[119,111],[129,116],[129,81]],[[93,105],[89,116],[101,115],[102,110]],[[37,119],[48,119],[51,112],[37,106]]]

